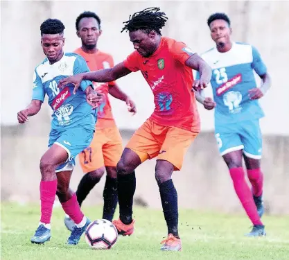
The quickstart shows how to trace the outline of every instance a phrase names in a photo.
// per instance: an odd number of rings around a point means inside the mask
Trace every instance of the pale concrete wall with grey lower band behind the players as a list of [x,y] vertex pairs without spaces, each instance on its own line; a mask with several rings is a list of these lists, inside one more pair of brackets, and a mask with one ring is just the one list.
[[[112,9],[113,6],[113,9]],[[92,10],[102,19],[103,35],[98,47],[112,53],[115,62],[131,51],[127,33],[120,33],[129,15],[159,6],[168,16],[163,35],[186,42],[199,53],[213,46],[207,17],[226,12],[231,18],[234,40],[254,44],[272,75],[273,86],[262,98],[266,117],[263,171],[265,204],[272,214],[289,213],[289,88],[286,80],[289,60],[289,2],[286,1],[1,1],[1,200],[37,201],[39,161],[46,150],[51,113],[48,105],[26,125],[17,125],[17,112],[30,102],[33,69],[44,55],[40,46],[40,24],[55,17],[66,26],[65,50],[80,46],[75,20],[80,12]],[[69,12],[69,14],[68,14]],[[137,102],[138,114],[131,117],[125,105],[111,99],[123,144],[153,110],[152,93],[141,73],[131,73],[119,85]],[[200,107],[202,134],[189,149],[181,173],[175,173],[180,207],[241,211],[227,168],[218,155],[213,138],[213,112]],[[208,152],[209,151],[209,152]],[[154,179],[155,160],[137,170],[137,193],[150,207],[160,207]],[[82,177],[79,166],[72,187]],[[85,203],[101,203],[103,182]]]

